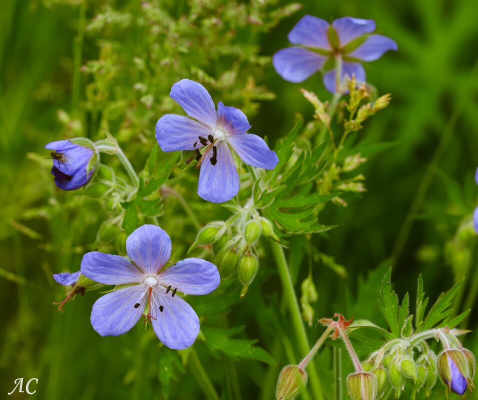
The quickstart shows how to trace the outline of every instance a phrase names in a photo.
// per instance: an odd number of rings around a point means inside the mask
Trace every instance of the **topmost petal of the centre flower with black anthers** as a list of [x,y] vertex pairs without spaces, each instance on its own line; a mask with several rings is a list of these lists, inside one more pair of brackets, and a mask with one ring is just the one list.
[[216,110],[208,91],[200,83],[189,79],[181,79],[171,87],[169,96],[174,99],[190,117],[214,128]]

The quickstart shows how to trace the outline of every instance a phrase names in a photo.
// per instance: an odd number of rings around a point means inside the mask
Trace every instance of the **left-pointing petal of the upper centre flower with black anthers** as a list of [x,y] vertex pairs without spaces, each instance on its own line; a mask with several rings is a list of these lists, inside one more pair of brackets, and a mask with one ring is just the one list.
[[176,114],[163,115],[156,123],[156,140],[162,151],[194,150],[202,146],[199,136],[207,137],[212,132],[202,123]]

